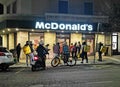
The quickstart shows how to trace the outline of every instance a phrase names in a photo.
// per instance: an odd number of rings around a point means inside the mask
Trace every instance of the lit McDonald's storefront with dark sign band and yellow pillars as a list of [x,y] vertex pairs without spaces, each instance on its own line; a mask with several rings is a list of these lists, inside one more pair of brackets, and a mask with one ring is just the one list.
[[[7,19],[1,24],[2,46],[8,49],[14,49],[18,43],[23,47],[26,41],[31,41],[35,48],[42,40],[44,45],[50,45],[50,57],[52,57],[53,44],[56,42],[62,45],[66,41],[70,46],[71,43],[87,41],[91,46],[89,55],[94,54],[98,42],[109,45],[108,55],[111,55],[111,33],[101,31],[102,27],[97,31],[97,22]],[[25,57],[23,52],[21,56]]]

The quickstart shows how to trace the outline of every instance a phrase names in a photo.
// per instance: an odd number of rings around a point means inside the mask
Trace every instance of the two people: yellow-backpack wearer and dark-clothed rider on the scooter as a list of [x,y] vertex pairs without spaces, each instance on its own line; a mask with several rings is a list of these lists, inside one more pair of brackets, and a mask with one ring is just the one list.
[[[26,41],[26,44],[23,47],[23,51],[26,54],[27,66],[28,66],[28,60],[30,59],[30,64],[32,64],[32,59],[34,58],[34,49],[32,45],[33,45],[32,43]],[[46,61],[46,54],[48,54],[48,49],[44,47],[43,42],[40,42],[35,51],[37,52],[38,57],[41,58],[41,67],[43,68],[43,70],[45,70],[46,69],[45,61]]]

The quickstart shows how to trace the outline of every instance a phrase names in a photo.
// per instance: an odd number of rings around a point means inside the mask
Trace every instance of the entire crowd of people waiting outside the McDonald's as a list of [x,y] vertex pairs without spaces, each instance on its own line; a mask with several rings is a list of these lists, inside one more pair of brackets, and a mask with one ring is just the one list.
[[[28,66],[28,61],[30,59],[30,64],[32,63],[32,59],[34,58],[34,49],[33,49],[33,44],[30,43],[30,41],[26,41],[26,44],[23,47],[23,51],[26,54],[26,64]],[[46,60],[46,54],[49,55],[48,51],[50,49],[48,49],[49,44],[47,44],[44,47],[44,43],[40,42],[39,46],[36,48],[36,52],[37,55],[42,59],[42,67],[43,69],[46,68],[46,64],[45,64],[45,60]],[[103,44],[100,42],[99,43],[99,48],[98,48],[98,54],[99,54],[99,58],[98,61],[102,61],[102,51],[101,51],[101,47],[103,46]],[[66,63],[68,61],[69,56],[71,55],[72,58],[77,58],[77,57],[81,57],[82,61],[81,63],[84,62],[84,59],[86,59],[86,63],[88,63],[88,56],[87,56],[87,43],[83,42],[82,44],[80,42],[75,43],[73,45],[73,43],[71,43],[70,46],[67,45],[67,42],[64,42],[62,44],[62,48],[60,46],[59,43],[56,43],[53,45],[53,53],[54,56],[59,56],[60,54],[62,54],[64,56],[63,61],[64,63]],[[20,59],[20,53],[21,53],[21,44],[18,43],[18,45],[16,46],[16,52],[17,52],[17,61],[19,62]]]

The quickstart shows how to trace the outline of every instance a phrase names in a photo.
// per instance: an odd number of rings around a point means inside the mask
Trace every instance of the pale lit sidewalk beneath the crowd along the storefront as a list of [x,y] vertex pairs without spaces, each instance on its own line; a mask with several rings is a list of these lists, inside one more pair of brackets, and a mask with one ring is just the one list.
[[[83,64],[92,64],[92,65],[106,65],[106,64],[120,64],[120,55],[116,55],[116,56],[103,56],[103,61],[97,61],[97,57],[94,58],[94,56],[88,56],[89,59],[89,63],[86,63],[86,60],[84,61]],[[47,67],[51,67],[51,60],[52,58],[46,59],[46,66]],[[20,63],[14,64],[10,67],[16,67],[16,68],[20,68],[20,67],[27,67],[26,63],[25,63],[25,59],[21,59]],[[63,65],[63,64],[61,64]],[[77,64],[76,65],[81,65],[81,58],[78,59]]]

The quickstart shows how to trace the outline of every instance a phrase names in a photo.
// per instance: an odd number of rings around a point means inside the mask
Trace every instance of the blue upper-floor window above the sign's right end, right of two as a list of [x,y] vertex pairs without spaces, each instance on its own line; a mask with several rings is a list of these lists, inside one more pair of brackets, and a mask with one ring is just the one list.
[[85,15],[93,15],[93,3],[92,2],[84,3],[84,14]]

